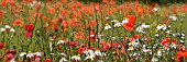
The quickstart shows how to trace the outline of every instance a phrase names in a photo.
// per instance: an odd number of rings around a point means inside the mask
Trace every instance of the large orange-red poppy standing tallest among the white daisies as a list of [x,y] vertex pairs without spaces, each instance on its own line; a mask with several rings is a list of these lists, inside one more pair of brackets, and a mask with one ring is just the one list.
[[136,16],[135,15],[128,15],[127,18],[129,18],[129,22],[123,24],[122,26],[123,26],[124,29],[132,32],[134,23],[136,21]]

